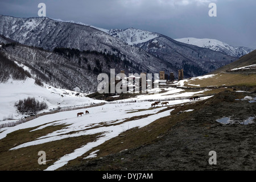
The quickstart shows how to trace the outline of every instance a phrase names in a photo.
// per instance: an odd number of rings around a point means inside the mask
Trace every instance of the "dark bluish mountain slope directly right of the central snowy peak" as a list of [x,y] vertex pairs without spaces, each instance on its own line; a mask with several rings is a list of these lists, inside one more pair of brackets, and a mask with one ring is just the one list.
[[137,44],[137,46],[166,60],[171,67],[183,68],[185,77],[204,75],[236,60],[235,57],[207,48],[180,43],[164,35]]

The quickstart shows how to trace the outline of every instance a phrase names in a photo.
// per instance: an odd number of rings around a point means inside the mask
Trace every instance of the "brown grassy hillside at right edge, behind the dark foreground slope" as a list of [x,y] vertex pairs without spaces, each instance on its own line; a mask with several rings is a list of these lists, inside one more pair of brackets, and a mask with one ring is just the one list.
[[214,87],[235,87],[245,88],[246,90],[254,90],[256,88],[255,69],[243,69],[236,72],[231,71],[234,68],[246,67],[256,64],[256,50],[241,57],[224,67],[210,72],[202,77],[190,78],[180,81],[180,86],[188,88],[214,88]]

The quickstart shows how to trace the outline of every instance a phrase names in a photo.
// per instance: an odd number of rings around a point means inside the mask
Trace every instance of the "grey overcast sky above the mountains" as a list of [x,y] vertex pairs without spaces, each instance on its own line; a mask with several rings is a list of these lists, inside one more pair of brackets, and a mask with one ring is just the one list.
[[[100,28],[139,28],[176,38],[210,38],[256,49],[255,0],[0,0],[0,14],[74,20]],[[208,15],[216,3],[217,16]],[[1,25],[0,25],[1,26]]]

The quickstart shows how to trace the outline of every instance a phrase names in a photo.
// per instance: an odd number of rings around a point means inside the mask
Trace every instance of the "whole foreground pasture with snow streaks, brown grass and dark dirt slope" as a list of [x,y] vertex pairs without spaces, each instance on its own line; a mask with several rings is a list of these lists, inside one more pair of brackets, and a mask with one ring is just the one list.
[[[167,87],[2,128],[0,169],[255,170],[256,94],[216,90],[206,97],[214,90]],[[169,103],[151,107],[156,100]],[[225,117],[233,122],[217,122]],[[39,151],[46,152],[46,165],[39,164]],[[216,165],[209,164],[210,151]]]

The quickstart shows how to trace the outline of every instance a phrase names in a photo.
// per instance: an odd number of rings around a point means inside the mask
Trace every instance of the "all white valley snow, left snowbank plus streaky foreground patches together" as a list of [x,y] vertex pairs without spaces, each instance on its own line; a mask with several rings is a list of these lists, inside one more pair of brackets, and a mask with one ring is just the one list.
[[[166,92],[154,94],[160,92],[160,88],[152,89],[151,94],[145,94],[138,96],[137,98],[130,98],[127,100],[106,102],[105,105],[89,107],[87,109],[78,109],[70,111],[62,111],[60,113],[43,115],[41,117],[32,119],[31,121],[16,125],[14,127],[4,127],[0,129],[0,139],[6,137],[7,134],[12,133],[20,129],[34,128],[34,130],[42,130],[47,126],[54,125],[67,125],[61,130],[54,131],[43,137],[36,138],[31,142],[23,143],[10,150],[17,150],[18,148],[34,146],[42,143],[61,140],[69,137],[79,137],[81,135],[98,134],[98,137],[94,142],[90,142],[77,148],[70,154],[66,154],[59,158],[52,166],[49,166],[46,170],[52,171],[58,169],[70,160],[85,154],[94,147],[106,142],[109,139],[117,137],[119,134],[134,127],[144,127],[154,122],[156,119],[167,117],[170,115],[171,110],[163,110],[167,106],[156,106],[151,108],[152,102],[147,100],[159,99],[167,100],[170,105],[188,104],[190,101],[185,100],[172,100],[172,98],[190,97],[194,94],[200,94],[204,90],[199,92],[184,92],[183,89],[177,88],[165,88]],[[4,114],[15,113],[14,102],[27,98],[28,96],[36,97],[39,101],[45,101],[50,108],[56,107],[58,103],[61,106],[75,106],[75,105],[91,105],[92,103],[100,103],[102,101],[92,100],[91,98],[82,96],[75,96],[75,92],[71,92],[63,89],[49,88],[49,86],[40,87],[34,84],[33,79],[27,79],[26,81],[9,81],[0,85],[1,92],[1,105],[0,116]],[[64,96],[61,94],[66,93]],[[206,99],[204,97],[201,99]],[[170,100],[169,100],[170,99]],[[133,101],[137,102],[133,102]],[[196,101],[193,101],[196,102]],[[89,111],[89,114],[85,114],[85,110]],[[192,111],[192,110],[187,110]],[[77,117],[77,113],[84,112],[82,117]],[[144,118],[135,119],[133,121],[125,121],[134,116],[141,116],[145,114],[151,114]],[[1,121],[4,122],[4,121]],[[1,123],[0,122],[0,123]],[[34,131],[31,129],[31,132]],[[43,149],[42,149],[43,150]],[[97,151],[92,152],[86,158],[94,158],[97,156]]]

